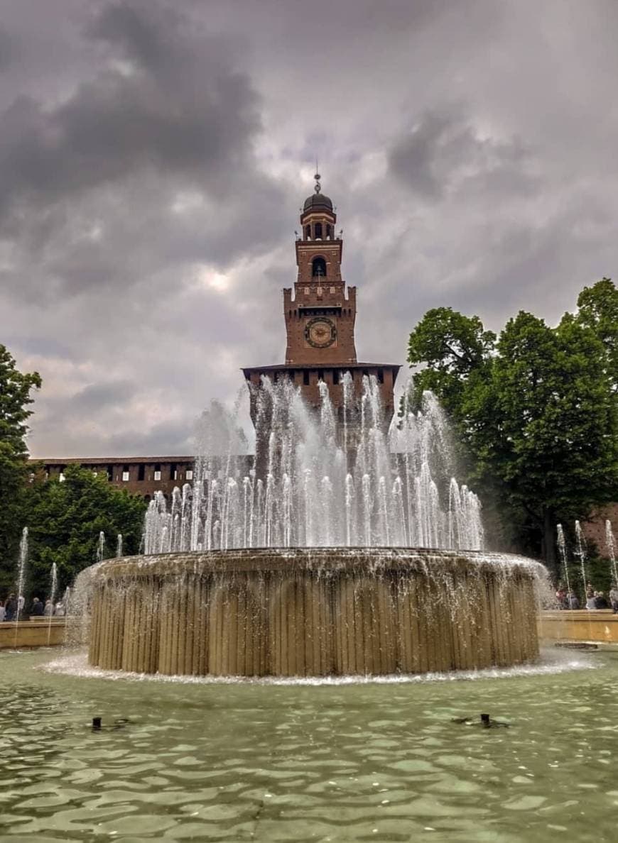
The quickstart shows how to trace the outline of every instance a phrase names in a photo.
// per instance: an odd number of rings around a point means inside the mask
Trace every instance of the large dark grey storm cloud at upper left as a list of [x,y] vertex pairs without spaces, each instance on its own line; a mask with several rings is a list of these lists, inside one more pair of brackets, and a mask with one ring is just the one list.
[[247,75],[164,11],[155,3],[103,8],[89,35],[129,64],[104,67],[56,107],[22,95],[3,111],[0,210],[38,210],[142,168],[221,196],[225,170],[247,167],[260,125]]

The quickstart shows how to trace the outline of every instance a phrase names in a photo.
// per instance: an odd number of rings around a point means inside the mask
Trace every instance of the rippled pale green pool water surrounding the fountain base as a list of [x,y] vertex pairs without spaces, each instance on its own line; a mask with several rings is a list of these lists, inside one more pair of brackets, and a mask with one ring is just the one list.
[[[618,839],[618,653],[397,685],[176,685],[0,655],[0,840]],[[581,657],[569,657],[581,658]],[[510,728],[453,717],[488,711]],[[93,733],[103,717],[112,727]]]

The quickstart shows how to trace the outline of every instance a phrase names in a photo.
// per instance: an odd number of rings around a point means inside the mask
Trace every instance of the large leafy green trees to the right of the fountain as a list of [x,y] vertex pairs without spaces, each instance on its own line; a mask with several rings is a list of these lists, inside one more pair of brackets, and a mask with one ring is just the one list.
[[557,520],[618,499],[618,291],[604,279],[579,301],[556,328],[521,311],[497,339],[476,316],[430,310],[409,340],[410,364],[425,366],[413,400],[436,393],[469,481],[517,525],[518,549],[550,564]]

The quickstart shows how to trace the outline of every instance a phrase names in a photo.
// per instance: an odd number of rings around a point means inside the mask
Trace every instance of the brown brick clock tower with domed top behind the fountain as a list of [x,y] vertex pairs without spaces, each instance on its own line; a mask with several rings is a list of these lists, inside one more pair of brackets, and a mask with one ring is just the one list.
[[258,391],[263,376],[277,381],[289,378],[300,387],[310,406],[320,403],[318,383],[323,381],[337,418],[343,418],[344,373],[350,372],[355,399],[362,392],[363,375],[375,375],[382,395],[384,423],[388,426],[394,411],[393,387],[398,366],[392,363],[357,362],[354,336],[356,287],[347,292],[341,277],[343,232],[335,234],[337,215],[333,202],[324,196],[320,175],[315,191],[301,213],[301,232],[296,234],[298,273],[294,291],[285,289],[284,317],[287,332],[285,364],[243,368],[251,387],[251,417],[255,423]]

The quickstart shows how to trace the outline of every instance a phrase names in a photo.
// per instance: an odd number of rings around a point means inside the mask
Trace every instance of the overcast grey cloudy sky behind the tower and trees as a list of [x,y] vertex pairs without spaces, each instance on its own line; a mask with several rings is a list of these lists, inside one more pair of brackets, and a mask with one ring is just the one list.
[[[35,456],[192,453],[283,362],[319,157],[360,359],[618,264],[615,0],[0,0],[0,342]],[[405,376],[405,373],[402,372]]]

